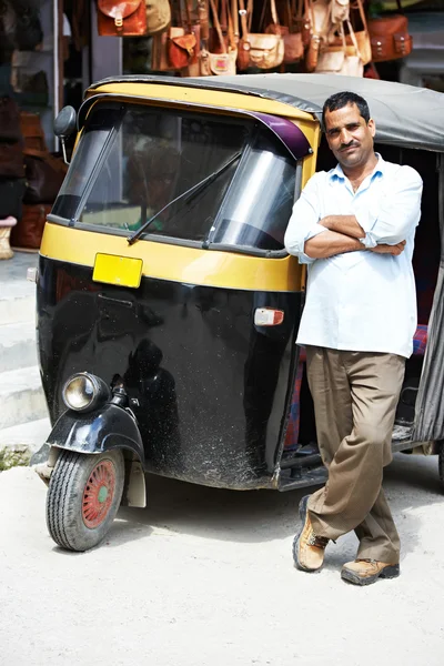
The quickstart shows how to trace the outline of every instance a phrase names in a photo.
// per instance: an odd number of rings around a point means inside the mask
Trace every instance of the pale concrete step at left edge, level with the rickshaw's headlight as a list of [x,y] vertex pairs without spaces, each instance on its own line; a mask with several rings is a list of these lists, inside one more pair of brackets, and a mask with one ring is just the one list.
[[0,373],[0,430],[48,417],[37,366]]

